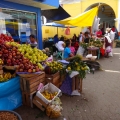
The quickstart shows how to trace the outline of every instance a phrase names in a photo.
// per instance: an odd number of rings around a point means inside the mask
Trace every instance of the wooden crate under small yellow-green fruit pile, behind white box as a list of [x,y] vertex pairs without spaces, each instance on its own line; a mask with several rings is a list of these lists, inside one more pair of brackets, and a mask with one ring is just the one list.
[[46,74],[45,78],[46,78],[47,82],[51,82],[55,86],[60,83],[60,73],[59,72],[57,72],[55,74],[51,74],[51,75]]

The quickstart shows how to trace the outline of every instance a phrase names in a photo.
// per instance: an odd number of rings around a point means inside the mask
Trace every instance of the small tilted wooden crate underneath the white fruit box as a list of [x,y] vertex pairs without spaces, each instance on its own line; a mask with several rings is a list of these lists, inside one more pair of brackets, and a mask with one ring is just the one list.
[[35,96],[33,98],[33,103],[40,108],[42,111],[45,111],[45,109],[47,108],[47,104],[45,102],[43,102],[39,97]]

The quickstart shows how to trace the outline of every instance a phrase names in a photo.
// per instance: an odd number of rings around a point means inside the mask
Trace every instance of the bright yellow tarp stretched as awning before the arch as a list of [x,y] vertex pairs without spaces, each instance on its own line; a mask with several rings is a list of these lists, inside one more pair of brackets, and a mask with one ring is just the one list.
[[55,21],[56,23],[63,25],[72,25],[72,26],[92,26],[94,22],[94,18],[98,13],[98,7],[92,8],[76,17],[71,17],[68,19],[64,19],[61,21]]

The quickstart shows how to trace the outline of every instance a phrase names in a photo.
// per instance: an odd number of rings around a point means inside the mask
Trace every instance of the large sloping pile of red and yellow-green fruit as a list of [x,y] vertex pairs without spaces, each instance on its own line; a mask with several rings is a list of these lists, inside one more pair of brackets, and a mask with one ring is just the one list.
[[0,65],[17,65],[18,72],[31,73],[44,69],[40,62],[45,61],[48,56],[41,50],[26,44],[20,45],[4,34],[0,38]]

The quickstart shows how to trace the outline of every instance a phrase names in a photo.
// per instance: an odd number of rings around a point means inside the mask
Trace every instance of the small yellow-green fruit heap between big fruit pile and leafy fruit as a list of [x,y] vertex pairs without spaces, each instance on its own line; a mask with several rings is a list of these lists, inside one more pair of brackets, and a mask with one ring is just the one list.
[[53,62],[47,62],[47,67],[45,68],[46,74],[54,74],[60,70],[63,69],[63,65],[60,62],[53,61]]

